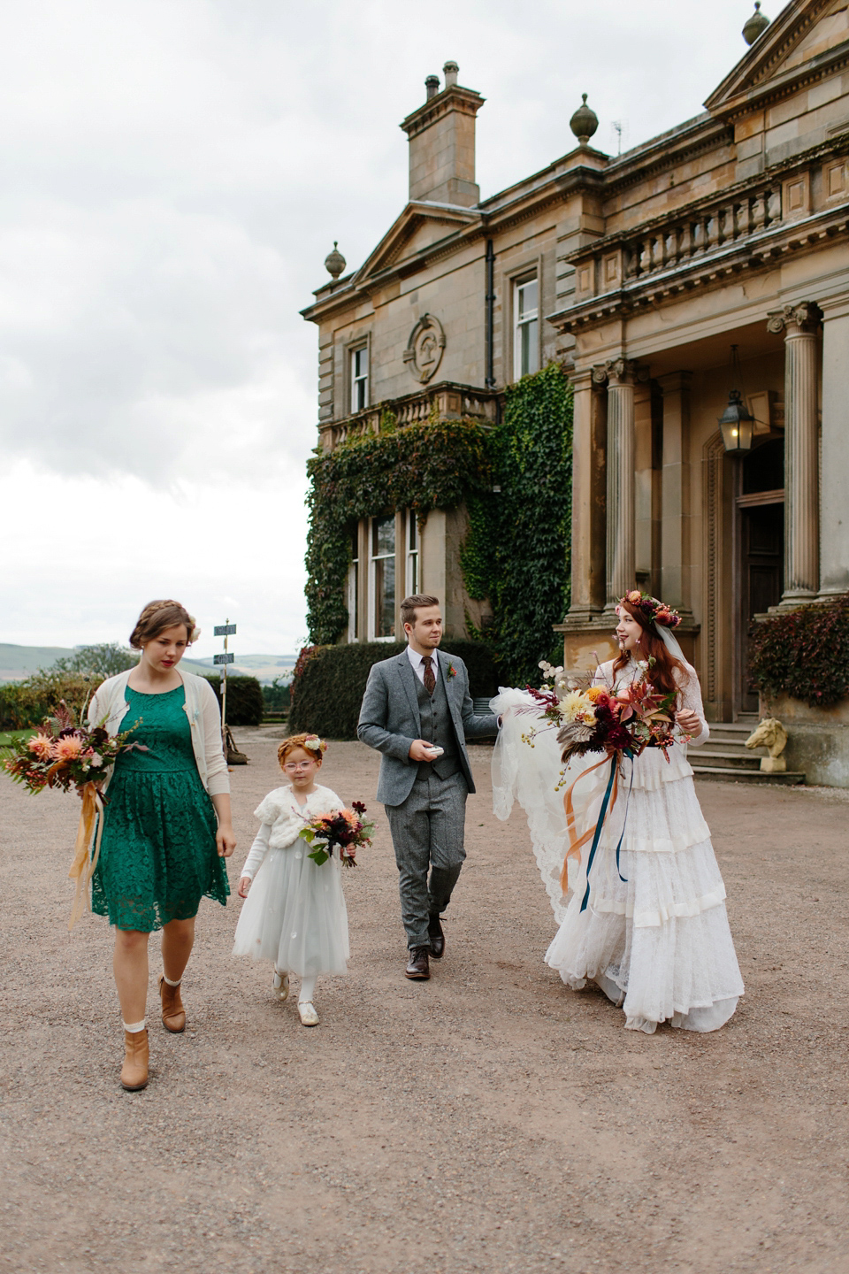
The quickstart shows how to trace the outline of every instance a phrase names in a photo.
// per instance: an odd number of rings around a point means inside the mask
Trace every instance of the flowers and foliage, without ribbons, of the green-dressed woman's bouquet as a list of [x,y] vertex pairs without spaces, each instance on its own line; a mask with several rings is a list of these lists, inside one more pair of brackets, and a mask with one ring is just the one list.
[[[135,729],[135,726],[134,726]],[[74,715],[62,699],[56,716],[46,717],[42,727],[28,739],[13,739],[3,768],[13,782],[23,784],[31,792],[45,787],[60,787],[64,792],[88,784],[102,784],[107,771],[122,752],[148,749],[141,743],[127,743],[132,730],[113,738],[104,726],[89,727],[74,721]]]

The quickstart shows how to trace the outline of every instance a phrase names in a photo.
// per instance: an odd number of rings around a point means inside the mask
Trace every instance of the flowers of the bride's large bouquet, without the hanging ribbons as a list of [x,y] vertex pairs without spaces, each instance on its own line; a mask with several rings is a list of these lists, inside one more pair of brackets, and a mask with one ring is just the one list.
[[[639,757],[648,747],[661,748],[670,759],[667,748],[675,743],[675,694],[654,689],[650,682],[653,662],[640,661],[639,676],[619,691],[606,685],[582,687],[582,680],[591,680],[592,674],[583,679],[564,678],[561,668],[540,665],[552,676],[554,685],[546,684],[540,691],[528,687],[528,692],[540,705],[540,716],[558,730],[564,764],[587,752]],[[535,733],[526,736],[528,741]]]

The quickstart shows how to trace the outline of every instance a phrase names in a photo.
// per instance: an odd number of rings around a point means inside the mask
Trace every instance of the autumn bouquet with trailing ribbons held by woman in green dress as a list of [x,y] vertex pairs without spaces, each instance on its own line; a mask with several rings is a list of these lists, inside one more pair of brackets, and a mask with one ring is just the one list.
[[[85,725],[83,711],[84,707],[80,710],[80,720],[75,721],[74,713],[62,699],[56,715],[46,717],[39,730],[28,739],[13,739],[3,749],[5,753],[3,769],[14,782],[23,784],[27,791],[39,792],[45,787],[59,787],[66,792],[73,787],[83,801],[74,861],[67,873],[71,880],[76,880],[69,929],[74,927],[89,907],[88,885],[101,854],[106,799],[102,786],[107,773],[122,752],[148,750],[141,743],[127,741],[135,726],[121,734],[109,735],[103,722],[94,726]],[[94,852],[89,860],[95,823]]]

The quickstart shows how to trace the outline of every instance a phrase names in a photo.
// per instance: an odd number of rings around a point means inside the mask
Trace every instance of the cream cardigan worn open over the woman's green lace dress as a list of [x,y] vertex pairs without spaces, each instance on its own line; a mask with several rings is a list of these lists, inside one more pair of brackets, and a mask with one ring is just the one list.
[[[121,733],[121,722],[130,711],[130,705],[125,698],[130,669],[109,676],[92,697],[88,710],[89,725],[106,726],[108,734],[115,736]],[[197,773],[210,796],[220,796],[230,790],[230,781],[227,777],[227,761],[221,744],[221,713],[215,698],[215,691],[206,678],[195,676],[193,673],[182,673],[177,669],[186,691],[186,703],[183,711],[188,717],[192,730],[192,748],[197,762]],[[132,722],[129,722],[131,725]],[[125,727],[126,729],[126,727]],[[107,775],[103,790],[109,785],[113,771]]]

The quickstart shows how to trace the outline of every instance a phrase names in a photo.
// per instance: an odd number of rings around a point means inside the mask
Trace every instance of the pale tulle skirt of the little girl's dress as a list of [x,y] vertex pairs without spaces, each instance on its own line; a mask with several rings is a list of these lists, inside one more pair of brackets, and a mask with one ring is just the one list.
[[347,972],[344,869],[336,857],[318,866],[308,852],[300,840],[269,850],[235,926],[234,956],[269,959],[299,977]]

